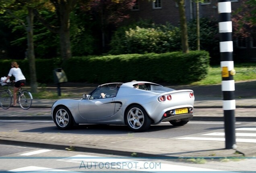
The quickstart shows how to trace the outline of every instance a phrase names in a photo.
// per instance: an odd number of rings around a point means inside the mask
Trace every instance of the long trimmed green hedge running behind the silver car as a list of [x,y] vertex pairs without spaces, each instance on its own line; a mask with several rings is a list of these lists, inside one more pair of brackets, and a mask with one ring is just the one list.
[[[53,83],[54,68],[62,67],[69,82],[127,82],[145,80],[188,84],[206,77],[209,68],[206,51],[171,52],[164,54],[123,54],[109,56],[73,57],[59,66],[54,59],[37,59],[36,72],[39,83]],[[1,76],[6,76],[12,60],[0,60]],[[27,60],[17,60],[29,82]]]

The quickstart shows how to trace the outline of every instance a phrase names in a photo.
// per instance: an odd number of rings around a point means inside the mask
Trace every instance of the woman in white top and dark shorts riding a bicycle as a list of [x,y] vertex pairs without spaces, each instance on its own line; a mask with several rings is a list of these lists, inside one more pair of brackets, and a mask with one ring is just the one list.
[[11,76],[15,77],[15,84],[14,84],[14,88],[13,88],[13,105],[12,106],[16,106],[17,91],[19,90],[19,87],[21,86],[21,84],[26,83],[26,78],[23,75],[23,73],[21,72],[21,68],[19,68],[19,64],[17,64],[17,62],[12,61],[11,67],[12,68],[10,69],[8,76],[4,82],[6,82]]

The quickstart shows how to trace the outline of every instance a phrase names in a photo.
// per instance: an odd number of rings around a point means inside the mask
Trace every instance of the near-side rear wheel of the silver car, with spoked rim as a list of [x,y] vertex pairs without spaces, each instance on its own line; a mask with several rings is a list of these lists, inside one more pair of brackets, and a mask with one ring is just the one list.
[[151,119],[142,106],[132,105],[126,111],[126,124],[132,131],[140,132],[149,129]]

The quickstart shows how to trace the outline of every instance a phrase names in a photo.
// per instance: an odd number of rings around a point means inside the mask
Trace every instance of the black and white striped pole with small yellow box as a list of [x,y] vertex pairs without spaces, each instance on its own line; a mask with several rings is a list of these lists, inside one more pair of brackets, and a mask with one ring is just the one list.
[[219,13],[219,34],[220,34],[220,55],[222,82],[221,91],[223,94],[223,111],[225,124],[225,148],[235,149],[235,75],[233,63],[233,41],[231,22],[230,0],[218,1]]

